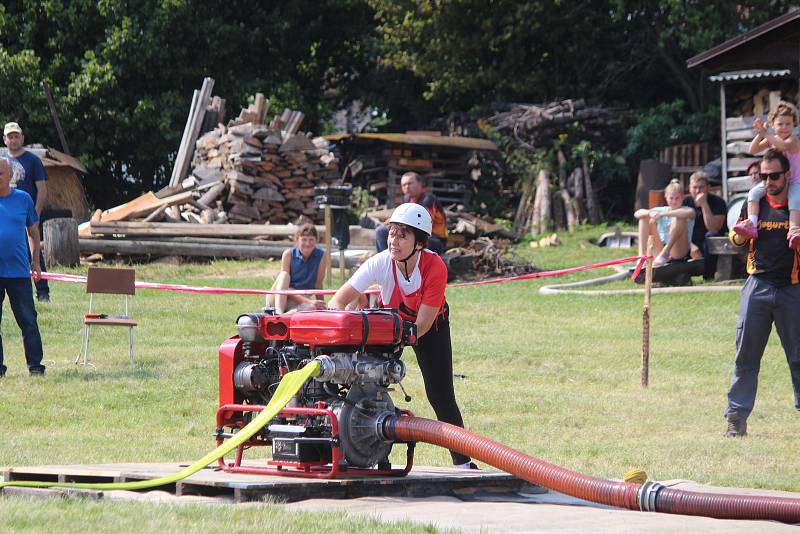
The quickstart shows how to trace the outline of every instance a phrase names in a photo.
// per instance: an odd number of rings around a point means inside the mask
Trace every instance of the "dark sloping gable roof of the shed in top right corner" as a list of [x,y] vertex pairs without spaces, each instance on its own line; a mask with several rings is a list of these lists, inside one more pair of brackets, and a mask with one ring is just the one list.
[[703,67],[708,70],[738,70],[795,65],[798,60],[797,46],[786,44],[798,40],[800,9],[793,8],[749,32],[689,58],[686,66],[690,69]]

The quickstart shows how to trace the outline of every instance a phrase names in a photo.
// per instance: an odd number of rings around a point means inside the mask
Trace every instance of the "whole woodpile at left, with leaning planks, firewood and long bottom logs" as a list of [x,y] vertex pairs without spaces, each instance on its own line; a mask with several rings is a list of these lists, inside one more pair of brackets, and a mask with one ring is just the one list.
[[[293,225],[323,222],[314,188],[340,180],[328,142],[298,132],[300,111],[286,109],[267,122],[269,102],[260,93],[225,125],[225,102],[210,96],[212,87],[208,78],[195,91],[170,185],[97,210],[81,225],[81,252],[274,257],[291,245]],[[234,231],[243,225],[255,231]],[[361,241],[371,246],[374,238]]]

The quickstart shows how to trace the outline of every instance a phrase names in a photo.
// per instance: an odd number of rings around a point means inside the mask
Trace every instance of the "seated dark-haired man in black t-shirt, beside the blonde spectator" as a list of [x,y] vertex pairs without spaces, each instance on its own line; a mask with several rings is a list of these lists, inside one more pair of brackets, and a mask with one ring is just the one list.
[[705,258],[703,278],[712,280],[717,272],[717,256],[708,253],[706,239],[725,233],[727,206],[721,197],[708,192],[708,177],[703,171],[689,177],[689,194],[684,197],[683,205],[695,212],[691,256],[696,260]]

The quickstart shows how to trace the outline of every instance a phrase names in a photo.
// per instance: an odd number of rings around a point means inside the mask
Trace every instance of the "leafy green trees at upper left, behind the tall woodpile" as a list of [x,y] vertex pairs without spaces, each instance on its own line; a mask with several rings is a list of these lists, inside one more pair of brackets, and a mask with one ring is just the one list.
[[357,0],[7,2],[2,118],[22,122],[28,141],[58,146],[39,88],[46,79],[90,169],[90,196],[113,206],[165,185],[204,76],[233,113],[260,91],[317,129],[368,70],[361,41],[371,17]]

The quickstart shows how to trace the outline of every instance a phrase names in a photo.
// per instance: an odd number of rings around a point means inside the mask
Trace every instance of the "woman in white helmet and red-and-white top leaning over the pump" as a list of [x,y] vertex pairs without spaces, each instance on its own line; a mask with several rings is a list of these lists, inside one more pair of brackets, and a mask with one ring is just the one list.
[[[416,324],[417,355],[425,394],[436,418],[464,426],[453,390],[453,348],[444,290],[447,267],[427,250],[431,216],[419,204],[401,204],[389,219],[389,248],[367,260],[330,301],[330,308],[344,309],[371,285],[381,288],[379,306],[396,308],[400,316]],[[476,468],[468,456],[450,451],[453,464]]]

